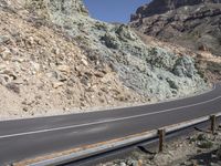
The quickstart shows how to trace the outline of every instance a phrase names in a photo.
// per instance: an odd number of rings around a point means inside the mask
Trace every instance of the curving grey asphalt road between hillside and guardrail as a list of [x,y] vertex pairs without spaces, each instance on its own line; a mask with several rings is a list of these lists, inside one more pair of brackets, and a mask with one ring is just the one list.
[[147,132],[221,112],[221,84],[188,98],[30,120],[0,122],[0,165]]

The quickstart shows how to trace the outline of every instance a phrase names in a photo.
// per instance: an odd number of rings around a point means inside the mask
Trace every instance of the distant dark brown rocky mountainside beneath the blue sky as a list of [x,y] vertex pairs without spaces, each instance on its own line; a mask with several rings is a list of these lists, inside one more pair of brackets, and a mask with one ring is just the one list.
[[147,35],[221,55],[221,0],[152,0],[130,21]]

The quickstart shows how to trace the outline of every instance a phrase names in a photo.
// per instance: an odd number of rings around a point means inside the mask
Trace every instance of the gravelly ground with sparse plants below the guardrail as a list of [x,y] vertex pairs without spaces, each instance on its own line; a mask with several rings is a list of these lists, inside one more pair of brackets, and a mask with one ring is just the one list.
[[[148,153],[149,152],[149,153]],[[135,151],[125,158],[98,166],[220,166],[221,124],[215,135],[198,132],[166,145],[164,153],[156,149]]]

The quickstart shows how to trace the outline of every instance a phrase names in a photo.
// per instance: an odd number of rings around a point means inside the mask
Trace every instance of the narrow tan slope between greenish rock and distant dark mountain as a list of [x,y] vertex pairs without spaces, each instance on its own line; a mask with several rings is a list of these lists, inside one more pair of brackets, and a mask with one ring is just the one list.
[[170,50],[176,54],[188,54],[194,59],[196,68],[200,75],[210,83],[221,82],[221,56],[215,56],[208,51],[192,51],[176,43],[159,41],[158,39],[136,31],[137,35],[152,46],[160,46]]

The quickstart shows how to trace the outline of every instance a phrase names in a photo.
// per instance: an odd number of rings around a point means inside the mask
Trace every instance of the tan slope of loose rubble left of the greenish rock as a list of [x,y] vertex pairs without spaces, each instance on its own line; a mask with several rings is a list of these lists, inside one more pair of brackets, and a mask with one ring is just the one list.
[[0,4],[0,118],[83,112],[145,102],[110,68],[98,68],[59,28],[24,1]]

